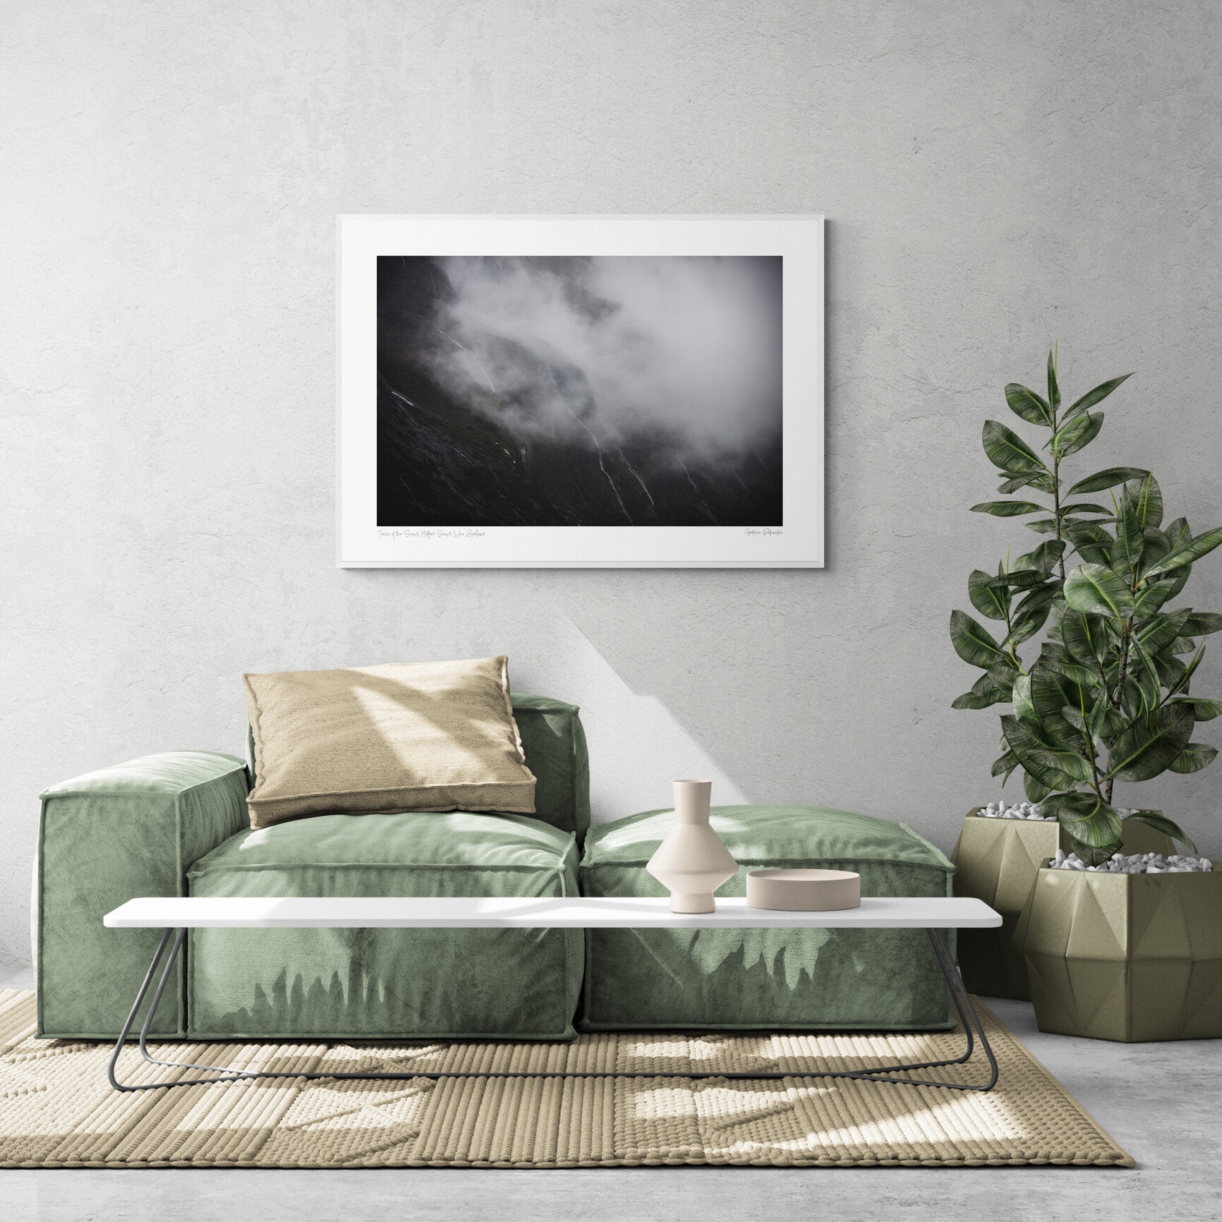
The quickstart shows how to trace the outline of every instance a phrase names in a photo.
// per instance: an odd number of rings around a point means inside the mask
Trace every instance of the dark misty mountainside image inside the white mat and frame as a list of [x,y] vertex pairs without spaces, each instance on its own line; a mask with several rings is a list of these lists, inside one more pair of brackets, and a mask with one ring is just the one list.
[[381,255],[378,524],[781,527],[782,276]]

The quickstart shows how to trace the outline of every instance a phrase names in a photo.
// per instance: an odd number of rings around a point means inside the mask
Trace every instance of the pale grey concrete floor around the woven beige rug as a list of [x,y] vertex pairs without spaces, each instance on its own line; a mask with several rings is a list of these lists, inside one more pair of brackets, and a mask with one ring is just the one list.
[[[28,969],[0,970],[0,987],[32,986]],[[1222,1218],[1222,1040],[1129,1045],[1073,1040],[1042,1035],[1025,1002],[991,1004],[1136,1158],[1136,1171],[0,1171],[0,1217],[7,1222]]]

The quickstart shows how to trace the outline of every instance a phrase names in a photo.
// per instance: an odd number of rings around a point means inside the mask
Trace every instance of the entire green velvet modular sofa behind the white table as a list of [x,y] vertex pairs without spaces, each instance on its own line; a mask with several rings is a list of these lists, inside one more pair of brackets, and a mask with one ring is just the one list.
[[[253,831],[253,764],[150,755],[43,794],[33,909],[38,1034],[122,1026],[159,934],[110,930],[133,896],[662,895],[665,813],[589,835],[574,705],[514,695],[535,815],[319,815]],[[949,895],[953,866],[898,824],[721,808],[742,864],[852,865],[865,895]],[[584,848],[584,853],[583,853]],[[918,931],[919,932],[919,931]],[[578,1029],[934,1029],[948,1000],[924,937],[891,930],[192,930],[153,1034],[186,1039],[565,1040]]]

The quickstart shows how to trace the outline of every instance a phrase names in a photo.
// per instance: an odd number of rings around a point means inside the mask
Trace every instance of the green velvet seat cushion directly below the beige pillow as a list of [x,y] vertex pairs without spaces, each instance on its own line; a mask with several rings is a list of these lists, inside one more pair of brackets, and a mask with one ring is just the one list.
[[[316,815],[242,831],[193,896],[573,896],[577,847],[527,815]],[[189,1034],[572,1039],[580,930],[191,931]]]

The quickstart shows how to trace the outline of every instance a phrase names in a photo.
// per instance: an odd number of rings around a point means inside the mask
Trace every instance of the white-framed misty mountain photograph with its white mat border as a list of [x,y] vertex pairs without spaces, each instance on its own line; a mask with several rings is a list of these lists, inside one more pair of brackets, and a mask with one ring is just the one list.
[[341,566],[822,567],[822,216],[337,237]]

